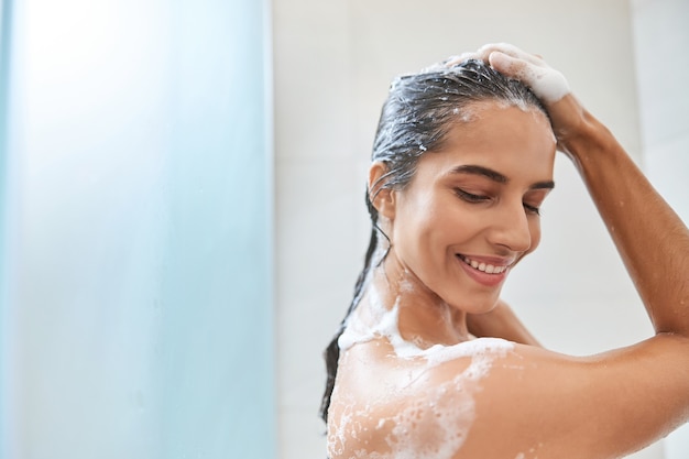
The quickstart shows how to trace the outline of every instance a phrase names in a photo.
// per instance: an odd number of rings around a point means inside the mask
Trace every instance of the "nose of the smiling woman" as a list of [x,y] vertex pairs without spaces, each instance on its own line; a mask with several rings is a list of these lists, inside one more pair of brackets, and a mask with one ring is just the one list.
[[512,252],[527,252],[534,242],[529,216],[524,205],[501,203],[495,207],[495,215],[489,239],[492,244],[510,249]]

